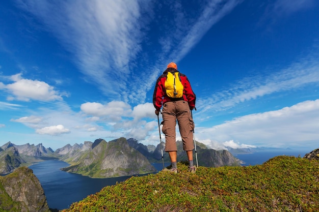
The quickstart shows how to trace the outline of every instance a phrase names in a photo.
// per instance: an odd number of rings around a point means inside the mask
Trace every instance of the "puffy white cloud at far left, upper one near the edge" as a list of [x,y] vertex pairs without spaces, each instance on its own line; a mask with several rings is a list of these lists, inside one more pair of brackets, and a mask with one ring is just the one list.
[[14,83],[2,86],[6,88],[9,93],[14,97],[8,97],[9,100],[20,100],[20,101],[55,101],[62,100],[61,95],[58,94],[54,87],[49,84],[39,81],[23,79],[21,74],[12,75],[10,77]]

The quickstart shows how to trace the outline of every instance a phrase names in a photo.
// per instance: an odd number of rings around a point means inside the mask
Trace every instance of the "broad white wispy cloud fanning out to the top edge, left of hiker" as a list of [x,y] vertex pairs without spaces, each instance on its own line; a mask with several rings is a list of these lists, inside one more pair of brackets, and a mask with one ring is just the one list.
[[[74,54],[74,62],[107,96],[126,90],[128,64],[141,50],[138,1],[28,1],[34,14]],[[147,4],[145,4],[147,5]]]

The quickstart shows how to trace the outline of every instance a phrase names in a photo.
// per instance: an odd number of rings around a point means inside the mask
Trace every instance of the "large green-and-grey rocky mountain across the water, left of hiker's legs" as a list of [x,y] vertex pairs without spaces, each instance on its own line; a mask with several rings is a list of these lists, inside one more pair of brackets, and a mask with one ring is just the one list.
[[96,139],[91,148],[85,151],[78,149],[75,153],[67,161],[71,166],[62,170],[96,178],[156,171],[145,156],[128,145],[125,138],[109,142]]

